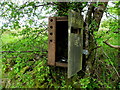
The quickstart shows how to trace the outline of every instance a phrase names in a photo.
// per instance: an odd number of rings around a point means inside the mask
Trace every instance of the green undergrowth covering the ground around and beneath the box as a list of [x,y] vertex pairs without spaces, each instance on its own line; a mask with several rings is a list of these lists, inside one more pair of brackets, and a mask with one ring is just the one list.
[[[31,33],[23,35],[25,30]],[[40,31],[39,35],[35,34]],[[21,33],[21,38],[14,39]],[[79,72],[67,79],[67,68],[47,65],[46,30],[24,29],[17,34],[4,33],[2,51],[9,52],[2,52],[2,88],[120,88],[118,50],[103,43],[107,39],[106,33],[99,32],[96,38],[101,34],[103,37],[97,39],[101,47],[97,49],[94,74],[82,78]],[[117,44],[115,37],[113,35],[110,43]]]

